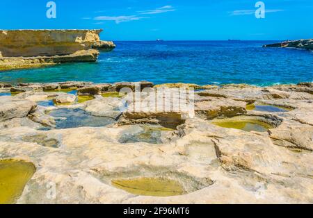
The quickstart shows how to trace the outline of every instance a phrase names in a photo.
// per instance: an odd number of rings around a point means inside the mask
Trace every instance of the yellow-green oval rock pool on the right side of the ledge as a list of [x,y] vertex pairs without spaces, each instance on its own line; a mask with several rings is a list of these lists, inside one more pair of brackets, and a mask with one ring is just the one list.
[[236,128],[246,132],[266,132],[269,128],[273,128],[273,126],[266,124],[262,121],[258,121],[256,119],[220,119],[217,121],[213,121],[212,124],[223,128]]

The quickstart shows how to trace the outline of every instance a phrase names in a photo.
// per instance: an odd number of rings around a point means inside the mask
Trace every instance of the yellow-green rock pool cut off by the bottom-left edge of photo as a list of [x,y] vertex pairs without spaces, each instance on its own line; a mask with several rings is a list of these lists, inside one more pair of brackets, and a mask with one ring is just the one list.
[[15,203],[35,170],[31,162],[0,160],[0,204]]

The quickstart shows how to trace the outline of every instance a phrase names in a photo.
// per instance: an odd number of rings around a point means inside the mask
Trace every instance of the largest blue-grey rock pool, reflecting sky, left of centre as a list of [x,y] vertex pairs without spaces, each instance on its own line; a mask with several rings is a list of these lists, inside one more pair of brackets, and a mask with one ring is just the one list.
[[66,109],[60,108],[52,110],[49,115],[55,117],[56,128],[77,128],[83,126],[99,127],[107,126],[115,122],[114,119],[109,117],[95,117],[90,113],[81,109]]

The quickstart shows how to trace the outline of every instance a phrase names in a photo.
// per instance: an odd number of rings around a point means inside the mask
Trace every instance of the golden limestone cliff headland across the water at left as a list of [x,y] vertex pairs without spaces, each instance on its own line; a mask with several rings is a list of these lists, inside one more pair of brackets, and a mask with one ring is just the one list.
[[64,62],[95,62],[98,49],[114,49],[102,41],[102,30],[0,31],[0,70],[56,65]]

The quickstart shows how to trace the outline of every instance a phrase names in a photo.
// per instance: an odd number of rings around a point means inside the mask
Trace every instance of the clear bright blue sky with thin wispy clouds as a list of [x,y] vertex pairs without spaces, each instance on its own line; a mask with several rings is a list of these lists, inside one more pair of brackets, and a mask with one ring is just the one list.
[[1,0],[0,29],[103,28],[103,40],[287,40],[313,38],[313,0]]

